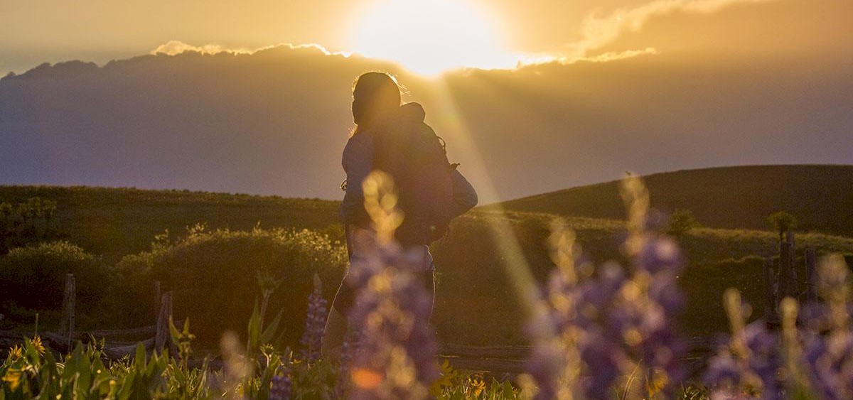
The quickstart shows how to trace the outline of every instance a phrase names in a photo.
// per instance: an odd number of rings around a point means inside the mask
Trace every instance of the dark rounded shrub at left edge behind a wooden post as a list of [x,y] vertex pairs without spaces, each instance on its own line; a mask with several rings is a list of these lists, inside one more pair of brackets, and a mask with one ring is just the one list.
[[61,307],[67,274],[74,274],[77,307],[94,310],[114,282],[113,270],[67,241],[16,247],[0,258],[3,297],[36,310]]

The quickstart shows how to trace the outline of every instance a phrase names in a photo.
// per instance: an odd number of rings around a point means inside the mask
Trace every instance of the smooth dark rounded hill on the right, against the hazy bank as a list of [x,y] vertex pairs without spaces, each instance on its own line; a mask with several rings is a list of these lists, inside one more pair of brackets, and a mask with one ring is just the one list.
[[[798,217],[798,230],[853,236],[853,165],[763,165],[675,171],[643,177],[652,206],[684,208],[712,228],[766,229],[771,212]],[[502,203],[508,210],[624,219],[618,182]]]

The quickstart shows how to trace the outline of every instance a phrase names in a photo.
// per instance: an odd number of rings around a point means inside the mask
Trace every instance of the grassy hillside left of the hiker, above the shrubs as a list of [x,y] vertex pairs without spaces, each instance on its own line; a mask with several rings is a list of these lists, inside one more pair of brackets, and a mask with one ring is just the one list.
[[0,186],[0,203],[31,197],[54,200],[60,229],[86,251],[118,261],[148,250],[154,235],[168,229],[183,235],[188,226],[251,229],[290,227],[334,230],[338,202],[277,196],[58,186]]

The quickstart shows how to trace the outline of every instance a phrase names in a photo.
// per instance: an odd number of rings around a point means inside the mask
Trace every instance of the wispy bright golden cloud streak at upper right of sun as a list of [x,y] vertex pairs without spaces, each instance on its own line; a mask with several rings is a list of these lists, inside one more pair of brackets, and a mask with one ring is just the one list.
[[769,3],[775,0],[656,0],[633,9],[618,9],[606,17],[589,14],[581,28],[583,39],[568,44],[567,57],[580,59],[589,52],[612,43],[626,31],[638,31],[655,15],[680,11],[712,14],[735,3]]

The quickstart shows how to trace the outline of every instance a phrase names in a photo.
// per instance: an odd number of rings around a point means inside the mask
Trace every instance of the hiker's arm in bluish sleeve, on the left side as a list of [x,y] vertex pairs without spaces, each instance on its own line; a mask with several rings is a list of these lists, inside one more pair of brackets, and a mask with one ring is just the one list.
[[340,203],[340,219],[346,224],[364,225],[369,221],[364,211],[362,183],[373,170],[373,141],[370,136],[352,136],[346,142],[341,165],[346,172],[346,192]]

